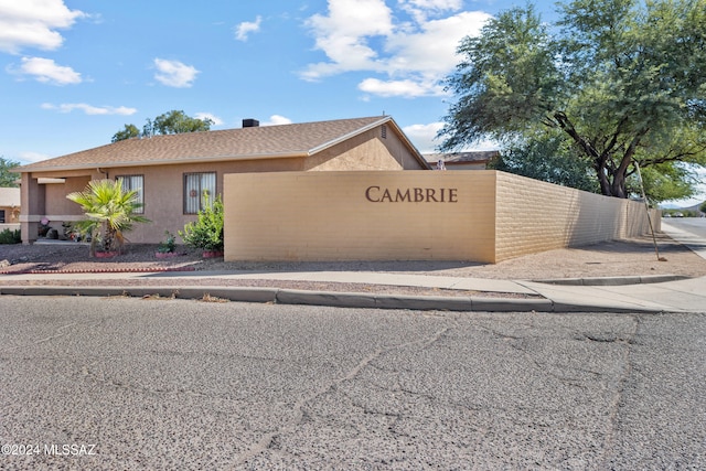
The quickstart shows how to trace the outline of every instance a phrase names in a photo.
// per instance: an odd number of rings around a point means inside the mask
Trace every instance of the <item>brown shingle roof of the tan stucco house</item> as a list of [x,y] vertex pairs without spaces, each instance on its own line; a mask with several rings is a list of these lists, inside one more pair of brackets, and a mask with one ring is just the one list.
[[377,116],[128,139],[31,163],[18,170],[38,172],[93,167],[302,157],[317,153],[388,121],[392,121],[389,116]]

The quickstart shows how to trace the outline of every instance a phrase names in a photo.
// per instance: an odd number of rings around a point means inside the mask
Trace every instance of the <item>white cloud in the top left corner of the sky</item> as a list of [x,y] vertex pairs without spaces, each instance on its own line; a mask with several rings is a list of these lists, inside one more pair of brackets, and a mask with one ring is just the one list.
[[19,53],[23,47],[55,50],[64,38],[56,31],[71,28],[86,14],[69,10],[63,0],[1,0],[0,51]]

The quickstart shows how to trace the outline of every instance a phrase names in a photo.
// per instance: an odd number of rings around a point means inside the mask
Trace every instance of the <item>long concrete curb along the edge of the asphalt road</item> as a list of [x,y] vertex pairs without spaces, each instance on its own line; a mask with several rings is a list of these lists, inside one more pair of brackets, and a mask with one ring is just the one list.
[[366,295],[359,292],[304,291],[250,287],[0,287],[0,296],[90,296],[158,299],[229,300],[333,308],[404,309],[458,312],[662,312],[652,309],[622,309],[558,303],[550,299]]

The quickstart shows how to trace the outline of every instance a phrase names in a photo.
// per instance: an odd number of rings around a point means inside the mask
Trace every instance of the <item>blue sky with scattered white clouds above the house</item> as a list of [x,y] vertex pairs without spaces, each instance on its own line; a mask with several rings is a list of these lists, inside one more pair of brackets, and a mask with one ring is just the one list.
[[173,109],[214,130],[385,114],[432,152],[459,42],[525,3],[0,0],[0,157],[103,146]]

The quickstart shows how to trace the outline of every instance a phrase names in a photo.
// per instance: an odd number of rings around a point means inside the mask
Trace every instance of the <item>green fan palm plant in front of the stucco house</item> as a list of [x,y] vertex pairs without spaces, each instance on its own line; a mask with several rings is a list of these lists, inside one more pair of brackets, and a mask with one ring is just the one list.
[[131,231],[135,223],[150,222],[135,214],[142,206],[137,196],[137,190],[122,189],[121,179],[93,180],[84,191],[66,195],[84,210],[86,220],[74,224],[74,228],[84,236],[90,236],[92,257],[98,242],[105,251],[120,251],[125,244],[124,234]]

